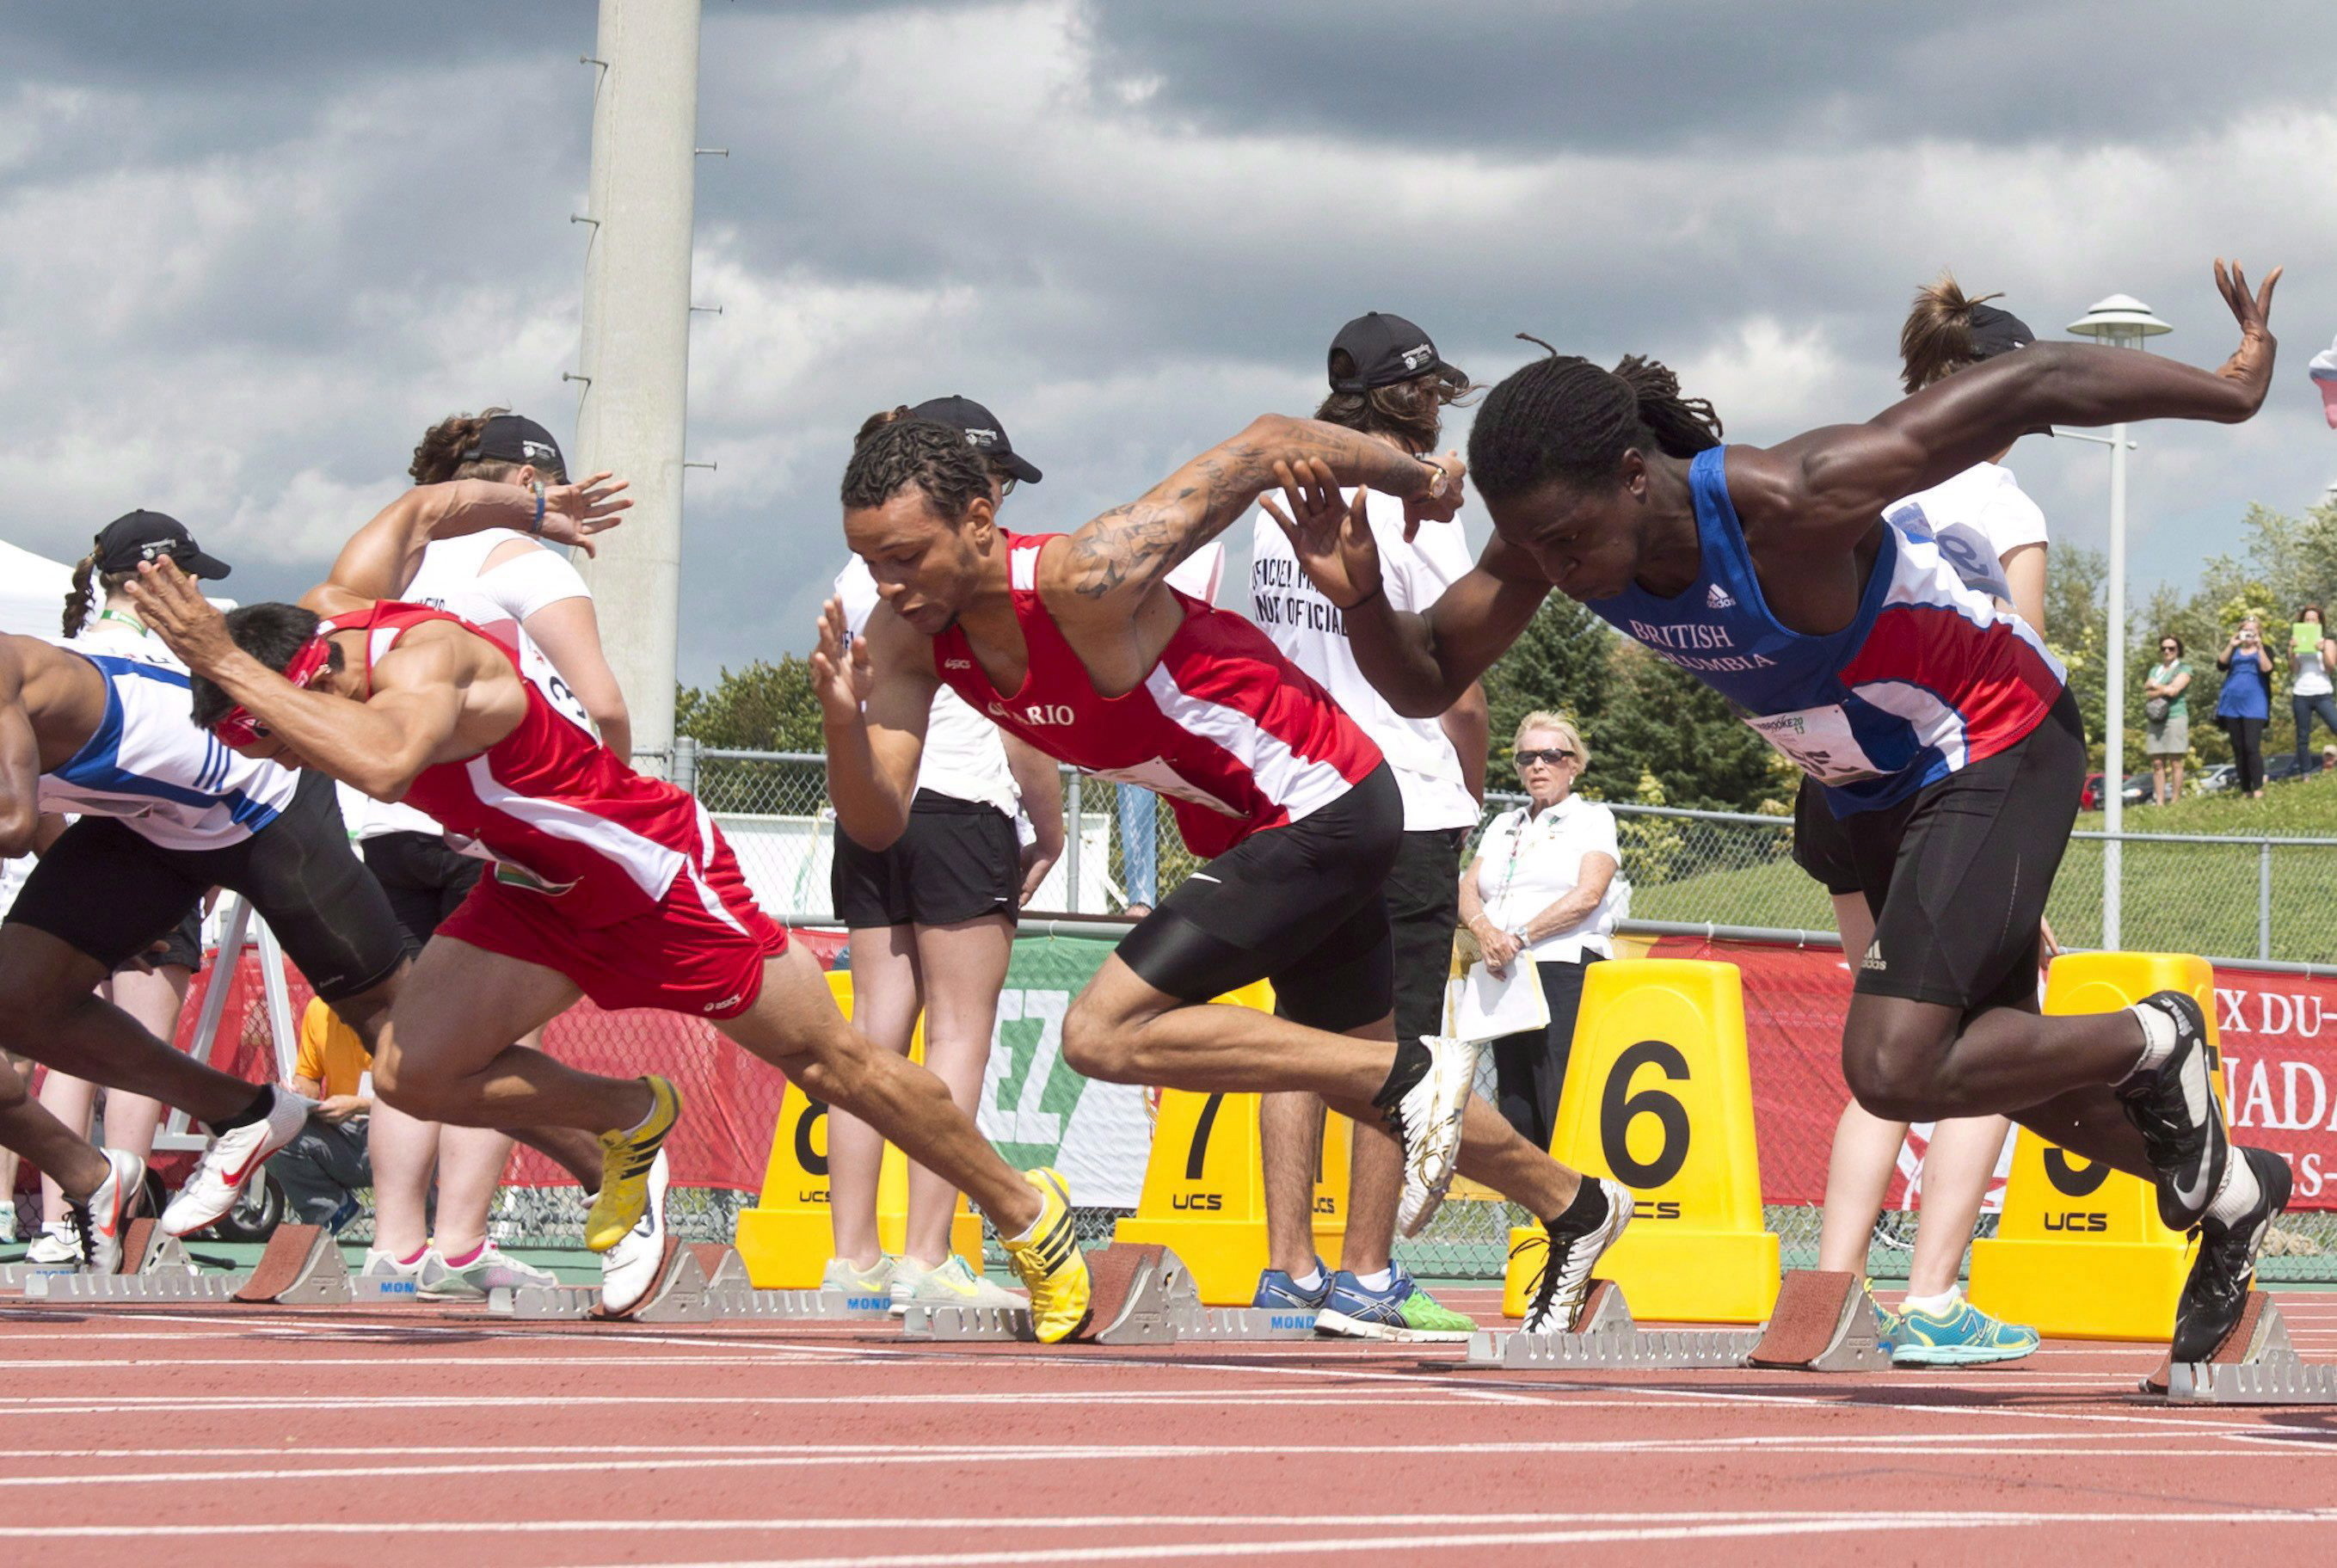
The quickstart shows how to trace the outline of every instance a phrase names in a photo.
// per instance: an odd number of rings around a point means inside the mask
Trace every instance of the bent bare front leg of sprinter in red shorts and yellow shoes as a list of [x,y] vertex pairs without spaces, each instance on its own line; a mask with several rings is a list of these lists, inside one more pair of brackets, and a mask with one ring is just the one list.
[[[636,1126],[654,1108],[640,1080],[577,1073],[512,1045],[577,995],[556,970],[430,937],[374,1049],[374,1091],[411,1117],[458,1126],[594,1136]],[[591,1168],[598,1180],[598,1159]]]

